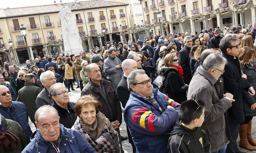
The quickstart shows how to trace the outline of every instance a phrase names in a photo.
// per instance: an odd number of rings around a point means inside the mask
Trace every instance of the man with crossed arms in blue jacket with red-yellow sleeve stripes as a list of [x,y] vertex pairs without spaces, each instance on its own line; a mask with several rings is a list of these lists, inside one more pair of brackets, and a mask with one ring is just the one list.
[[152,89],[144,70],[132,71],[127,84],[131,94],[124,108],[124,121],[137,153],[167,153],[165,133],[178,121],[180,104]]

